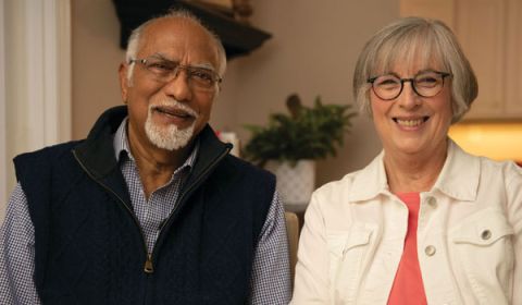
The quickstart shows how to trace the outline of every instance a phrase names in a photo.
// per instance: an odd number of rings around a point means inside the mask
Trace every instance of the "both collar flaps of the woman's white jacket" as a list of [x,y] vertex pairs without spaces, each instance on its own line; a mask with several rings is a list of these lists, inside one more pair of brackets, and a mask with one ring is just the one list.
[[[389,193],[383,158],[384,150],[356,175],[351,193],[355,202],[368,200],[380,194]],[[448,155],[432,192],[438,190],[458,200],[474,200],[480,172],[480,159],[467,154],[448,138]]]

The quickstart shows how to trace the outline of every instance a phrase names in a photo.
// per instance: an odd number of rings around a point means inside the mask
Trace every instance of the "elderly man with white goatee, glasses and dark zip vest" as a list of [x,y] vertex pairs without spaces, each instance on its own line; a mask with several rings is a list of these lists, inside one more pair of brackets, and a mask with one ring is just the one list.
[[273,175],[208,125],[226,58],[187,12],[134,30],[126,106],[88,137],[15,158],[2,304],[287,304]]

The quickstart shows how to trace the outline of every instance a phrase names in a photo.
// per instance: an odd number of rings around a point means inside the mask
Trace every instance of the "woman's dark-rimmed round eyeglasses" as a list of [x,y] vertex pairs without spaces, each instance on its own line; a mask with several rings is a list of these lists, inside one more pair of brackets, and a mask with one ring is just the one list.
[[413,91],[422,97],[434,97],[444,87],[444,78],[451,76],[447,72],[423,71],[413,78],[400,78],[395,74],[386,74],[368,78],[372,84],[373,93],[381,99],[396,99],[405,87],[406,82],[411,83]]

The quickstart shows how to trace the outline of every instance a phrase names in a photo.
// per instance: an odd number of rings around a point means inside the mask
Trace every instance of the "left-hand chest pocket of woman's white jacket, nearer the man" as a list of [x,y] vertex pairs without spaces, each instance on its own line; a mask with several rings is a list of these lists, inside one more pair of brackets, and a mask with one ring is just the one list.
[[331,300],[334,304],[355,302],[373,231],[368,224],[356,222],[348,231],[326,232]]

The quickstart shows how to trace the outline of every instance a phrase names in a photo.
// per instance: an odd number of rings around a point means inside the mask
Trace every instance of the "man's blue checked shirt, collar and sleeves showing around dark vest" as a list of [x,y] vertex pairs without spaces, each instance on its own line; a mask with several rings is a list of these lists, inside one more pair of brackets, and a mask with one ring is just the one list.
[[[114,136],[114,151],[130,193],[136,217],[146,235],[149,253],[152,252],[161,221],[174,208],[181,186],[190,172],[199,146],[179,167],[170,182],[145,197],[136,162],[130,154],[126,135],[126,121]],[[27,198],[20,184],[8,204],[3,225],[0,228],[0,302],[1,304],[40,304],[33,281],[35,257],[35,231],[29,217]],[[249,304],[288,304],[290,274],[288,243],[283,205],[277,192],[261,231],[256,248],[250,280]]]

